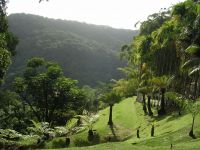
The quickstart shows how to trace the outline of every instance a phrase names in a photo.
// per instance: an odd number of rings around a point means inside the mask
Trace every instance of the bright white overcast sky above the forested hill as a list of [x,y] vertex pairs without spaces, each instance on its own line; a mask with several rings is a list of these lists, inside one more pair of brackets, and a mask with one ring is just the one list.
[[[20,2],[19,2],[20,1]],[[114,28],[135,29],[138,21],[184,0],[9,0],[8,14],[28,13]]]

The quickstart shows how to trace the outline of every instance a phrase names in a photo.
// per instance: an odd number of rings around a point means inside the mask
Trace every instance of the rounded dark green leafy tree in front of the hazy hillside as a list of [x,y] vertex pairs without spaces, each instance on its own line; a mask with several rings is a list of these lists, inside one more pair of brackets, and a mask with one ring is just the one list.
[[77,81],[63,76],[58,64],[32,58],[24,77],[13,82],[13,89],[39,122],[64,125],[73,115],[81,114],[85,105],[85,96],[76,84]]

